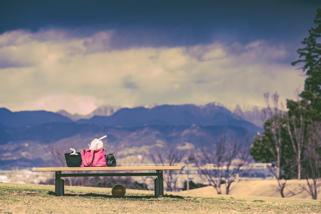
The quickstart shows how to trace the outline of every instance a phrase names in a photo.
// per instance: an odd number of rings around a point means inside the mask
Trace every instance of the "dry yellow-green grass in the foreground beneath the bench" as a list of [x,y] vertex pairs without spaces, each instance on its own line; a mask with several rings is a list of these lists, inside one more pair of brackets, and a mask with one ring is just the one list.
[[0,183],[0,213],[321,213],[321,201],[267,197],[193,197],[167,192],[126,190],[114,198],[110,188]]

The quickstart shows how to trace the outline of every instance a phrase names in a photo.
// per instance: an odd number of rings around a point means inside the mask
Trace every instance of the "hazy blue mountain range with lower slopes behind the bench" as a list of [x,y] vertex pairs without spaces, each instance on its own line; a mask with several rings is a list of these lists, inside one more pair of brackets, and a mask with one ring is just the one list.
[[94,116],[90,118],[81,116],[75,120],[70,115],[62,111],[12,112],[0,108],[0,169],[57,166],[58,159],[64,160],[63,153],[71,152],[69,148],[80,151],[104,135],[108,136],[103,140],[104,148],[124,165],[126,161],[138,161],[137,155],[146,156],[148,161],[153,149],[197,149],[219,139],[222,132],[252,138],[263,130],[217,103],[149,108],[107,106],[92,112]]

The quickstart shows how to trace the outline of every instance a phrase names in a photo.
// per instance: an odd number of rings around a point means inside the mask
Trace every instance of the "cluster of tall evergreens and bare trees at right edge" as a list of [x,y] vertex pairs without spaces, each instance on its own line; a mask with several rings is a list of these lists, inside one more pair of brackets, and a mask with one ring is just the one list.
[[321,186],[321,8],[314,19],[317,26],[309,30],[309,36],[297,50],[299,60],[292,65],[302,65],[306,79],[304,90],[297,100],[286,100],[288,111],[280,110],[279,94],[264,94],[267,108],[264,112],[264,132],[254,138],[251,155],[254,160],[272,163],[282,197],[286,181],[305,179],[303,188],[313,199]]

